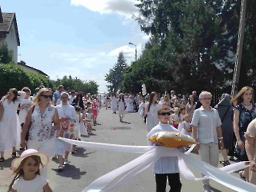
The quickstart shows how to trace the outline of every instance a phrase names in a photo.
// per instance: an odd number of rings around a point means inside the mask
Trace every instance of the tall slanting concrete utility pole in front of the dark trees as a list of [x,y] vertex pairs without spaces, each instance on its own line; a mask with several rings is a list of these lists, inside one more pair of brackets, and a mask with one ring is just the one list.
[[237,54],[235,57],[235,64],[234,64],[234,77],[232,81],[231,98],[234,98],[234,95],[238,93],[238,83],[239,83],[240,68],[241,68],[241,56],[242,56],[243,42],[244,42],[245,13],[246,13],[246,0],[241,0],[241,13],[240,13],[240,22],[239,22],[239,31],[238,31],[238,46],[237,46]]

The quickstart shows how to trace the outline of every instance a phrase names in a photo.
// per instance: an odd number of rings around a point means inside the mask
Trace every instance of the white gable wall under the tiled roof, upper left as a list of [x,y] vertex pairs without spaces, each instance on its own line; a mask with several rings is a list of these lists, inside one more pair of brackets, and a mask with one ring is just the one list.
[[18,62],[18,43],[15,33],[15,25],[14,22],[12,22],[11,29],[9,33],[6,35],[6,38],[0,38],[0,45],[3,45],[3,43],[6,43],[8,45],[8,49],[12,51],[12,60],[15,64]]

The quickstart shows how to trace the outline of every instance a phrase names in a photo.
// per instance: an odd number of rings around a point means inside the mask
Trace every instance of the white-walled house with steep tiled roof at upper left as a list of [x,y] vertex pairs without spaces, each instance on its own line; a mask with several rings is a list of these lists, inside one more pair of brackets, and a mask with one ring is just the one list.
[[13,61],[18,61],[18,46],[20,46],[18,25],[15,13],[2,13],[0,8],[0,46],[7,44],[12,52]]

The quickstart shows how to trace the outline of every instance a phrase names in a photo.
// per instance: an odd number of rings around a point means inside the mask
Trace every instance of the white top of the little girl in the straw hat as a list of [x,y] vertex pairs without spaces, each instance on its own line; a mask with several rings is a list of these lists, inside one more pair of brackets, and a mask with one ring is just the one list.
[[17,192],[44,192],[45,184],[48,184],[48,180],[40,175],[33,180],[24,180],[23,177],[19,177],[12,185],[12,189]]

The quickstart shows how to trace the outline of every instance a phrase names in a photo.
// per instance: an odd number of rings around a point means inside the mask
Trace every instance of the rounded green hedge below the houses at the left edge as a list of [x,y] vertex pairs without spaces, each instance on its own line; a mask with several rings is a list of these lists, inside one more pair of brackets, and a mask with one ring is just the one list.
[[17,88],[19,91],[28,87],[33,94],[35,88],[41,84],[52,88],[52,81],[45,75],[24,71],[14,64],[0,64],[0,98],[8,92],[9,88]]

